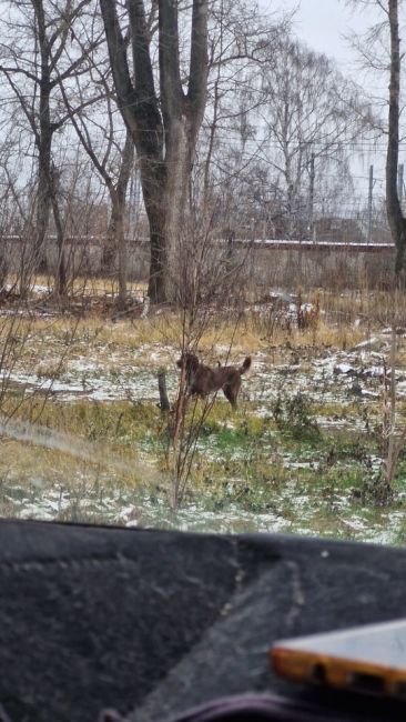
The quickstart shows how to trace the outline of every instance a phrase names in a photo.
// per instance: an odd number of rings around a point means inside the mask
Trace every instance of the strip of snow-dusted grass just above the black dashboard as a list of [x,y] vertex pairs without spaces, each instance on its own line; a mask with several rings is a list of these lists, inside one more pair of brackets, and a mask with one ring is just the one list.
[[[294,499],[295,517],[290,513]],[[209,511],[196,503],[186,503],[176,512],[163,499],[153,499],[133,490],[111,489],[102,495],[100,491],[88,490],[78,499],[77,492],[68,485],[58,489],[26,489],[16,484],[10,487],[3,501],[12,503],[13,515],[21,519],[85,519],[124,527],[170,528],[194,531],[314,534],[317,530],[317,501],[300,493],[294,480],[285,485],[277,500],[281,511],[268,510],[260,513],[230,503],[222,511]],[[403,511],[385,512],[371,523],[363,509],[348,512],[348,499],[336,498],[334,535],[359,539],[377,543],[398,543],[404,538],[406,514]],[[285,511],[286,510],[286,511]]]

